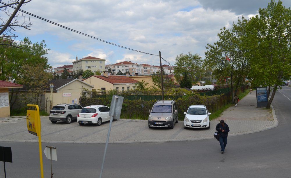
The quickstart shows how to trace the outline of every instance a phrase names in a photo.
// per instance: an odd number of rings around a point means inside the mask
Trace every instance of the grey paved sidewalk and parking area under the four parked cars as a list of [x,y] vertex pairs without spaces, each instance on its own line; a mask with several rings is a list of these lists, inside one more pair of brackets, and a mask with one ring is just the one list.
[[[237,104],[223,111],[210,121],[210,129],[184,129],[183,121],[174,129],[148,128],[147,120],[120,119],[112,123],[109,143],[171,142],[184,140],[214,139],[215,126],[223,119],[229,126],[229,137],[274,128],[278,121],[274,109],[257,108],[256,95],[248,94]],[[41,116],[41,139],[49,143],[105,143],[109,122],[101,126],[80,126],[51,123],[48,116]],[[0,141],[38,142],[38,137],[28,133],[26,117],[0,118]]]

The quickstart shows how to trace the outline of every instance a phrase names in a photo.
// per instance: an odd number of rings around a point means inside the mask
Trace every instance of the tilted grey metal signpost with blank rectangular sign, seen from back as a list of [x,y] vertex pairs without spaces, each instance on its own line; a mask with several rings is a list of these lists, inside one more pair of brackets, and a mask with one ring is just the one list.
[[123,103],[122,96],[117,96],[117,95],[112,96],[110,110],[109,110],[109,116],[111,116],[111,118],[110,118],[109,129],[108,129],[108,134],[107,134],[107,139],[106,139],[106,144],[105,144],[105,150],[104,150],[103,162],[102,162],[102,166],[101,166],[100,178],[102,177],[102,172],[103,172],[103,167],[104,167],[105,156],[106,156],[107,146],[108,146],[108,142],[109,142],[109,136],[110,136],[110,130],[111,130],[113,117],[116,118],[117,120],[119,120],[121,108],[122,108],[122,103]]

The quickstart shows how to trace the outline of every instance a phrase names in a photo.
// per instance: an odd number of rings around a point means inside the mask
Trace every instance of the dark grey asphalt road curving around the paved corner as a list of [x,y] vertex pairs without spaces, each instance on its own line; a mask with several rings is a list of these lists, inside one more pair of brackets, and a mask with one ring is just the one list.
[[[215,139],[109,144],[102,177],[290,177],[290,90],[279,90],[272,104],[279,125],[229,137],[225,154]],[[7,177],[40,177],[38,143],[1,144],[13,148]],[[45,145],[58,149],[54,177],[99,177],[105,144],[51,144],[42,144],[42,150]],[[45,177],[50,177],[45,156],[43,163]]]

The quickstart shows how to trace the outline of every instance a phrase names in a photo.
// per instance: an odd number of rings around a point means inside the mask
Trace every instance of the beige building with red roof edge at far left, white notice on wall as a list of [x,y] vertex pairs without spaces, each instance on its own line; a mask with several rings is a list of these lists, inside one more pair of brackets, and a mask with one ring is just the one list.
[[9,88],[22,88],[22,85],[0,80],[0,119],[10,116]]

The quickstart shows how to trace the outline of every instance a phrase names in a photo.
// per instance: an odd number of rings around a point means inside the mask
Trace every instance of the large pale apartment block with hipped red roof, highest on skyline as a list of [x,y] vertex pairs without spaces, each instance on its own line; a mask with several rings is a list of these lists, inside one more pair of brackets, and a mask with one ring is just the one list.
[[97,57],[84,57],[82,59],[78,60],[78,57],[76,57],[76,60],[72,62],[73,63],[73,71],[77,72],[77,70],[83,69],[88,70],[91,69],[95,73],[98,69],[101,71],[105,71],[105,59],[100,59]]

